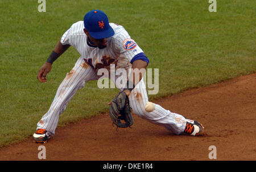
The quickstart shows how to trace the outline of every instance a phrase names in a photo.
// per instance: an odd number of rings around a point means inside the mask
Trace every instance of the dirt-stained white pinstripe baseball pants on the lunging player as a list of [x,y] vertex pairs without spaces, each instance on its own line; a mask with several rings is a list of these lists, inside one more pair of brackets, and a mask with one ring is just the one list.
[[[80,57],[75,66],[59,85],[51,107],[38,122],[37,128],[44,128],[50,135],[55,135],[59,115],[67,108],[71,98],[79,89],[84,87],[87,81],[97,80],[98,78],[97,71],[84,63],[84,59]],[[117,87],[118,86],[120,87],[120,85],[117,85]],[[122,90],[122,88],[120,89]],[[176,135],[183,133],[186,122],[182,115],[172,113],[170,110],[166,110],[157,104],[155,104],[155,109],[151,112],[147,112],[144,109],[144,105],[148,102],[148,97],[143,79],[131,92],[129,101],[133,113],[137,114],[139,117],[164,126]]]

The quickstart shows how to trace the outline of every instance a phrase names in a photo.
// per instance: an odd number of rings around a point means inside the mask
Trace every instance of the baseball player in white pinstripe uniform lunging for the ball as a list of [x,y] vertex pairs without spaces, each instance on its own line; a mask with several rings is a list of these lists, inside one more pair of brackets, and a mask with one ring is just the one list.
[[[89,11],[85,14],[84,21],[74,23],[64,33],[38,72],[38,80],[41,83],[47,81],[46,76],[51,71],[52,63],[69,46],[76,48],[81,56],[59,85],[51,107],[38,122],[33,135],[36,142],[46,142],[50,136],[55,135],[59,115],[63,113],[77,90],[84,87],[85,83],[90,80],[98,80],[101,76],[98,76],[97,71],[101,68],[110,71],[111,65],[115,66],[115,70],[122,68],[127,71],[127,76],[122,76],[127,83],[118,84],[115,81],[114,83],[119,91],[128,97],[134,114],[149,122],[166,127],[176,135],[204,134],[204,127],[199,122],[172,113],[160,105],[155,104],[154,110],[150,112],[145,110],[148,97],[142,75],[139,75],[137,81],[130,79],[130,76],[134,74],[129,73],[128,70],[131,68],[146,70],[149,60],[125,28],[122,25],[109,23],[108,16],[103,11]],[[118,76],[115,76],[114,79],[117,78]],[[113,80],[113,78],[110,79]],[[132,86],[130,87],[130,85]]]

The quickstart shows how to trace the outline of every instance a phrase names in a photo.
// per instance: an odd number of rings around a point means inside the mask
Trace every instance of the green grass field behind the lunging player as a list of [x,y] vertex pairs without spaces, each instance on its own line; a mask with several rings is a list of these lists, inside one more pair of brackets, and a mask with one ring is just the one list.
[[[256,71],[254,0],[217,1],[0,1],[0,147],[30,136],[79,53],[65,52],[48,74],[36,79],[61,35],[84,14],[100,9],[123,25],[159,68],[159,93],[151,100]],[[60,116],[59,126],[108,110],[117,89],[86,83]]]

